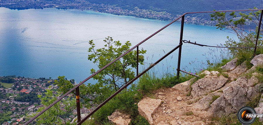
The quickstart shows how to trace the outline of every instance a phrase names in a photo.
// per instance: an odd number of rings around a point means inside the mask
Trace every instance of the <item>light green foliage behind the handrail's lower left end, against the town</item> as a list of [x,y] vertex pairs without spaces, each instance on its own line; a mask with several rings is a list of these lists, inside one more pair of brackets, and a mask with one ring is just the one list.
[[[40,107],[37,112],[41,112],[46,108],[47,106],[51,105],[54,101],[57,100],[56,97],[59,97],[59,94],[53,94],[53,91],[51,90],[51,86],[49,86],[49,89],[46,89],[45,96],[42,97],[42,95],[37,95],[38,98],[41,100],[41,104],[44,105],[44,107]],[[60,103],[64,104],[64,110],[60,109],[62,105]],[[38,124],[63,124],[66,123],[66,116],[69,114],[69,112],[72,112],[76,108],[76,102],[75,100],[72,100],[70,98],[63,99],[62,101],[59,101],[55,105],[53,105],[51,108],[49,108],[46,112],[44,112],[42,115],[37,117],[37,123]],[[33,114],[35,116],[36,114]],[[62,118],[62,119],[60,119]]]

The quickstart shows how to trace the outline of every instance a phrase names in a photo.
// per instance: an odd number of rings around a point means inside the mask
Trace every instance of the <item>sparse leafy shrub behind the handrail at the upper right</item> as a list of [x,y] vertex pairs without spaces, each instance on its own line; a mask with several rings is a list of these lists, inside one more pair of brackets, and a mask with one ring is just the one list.
[[[257,8],[254,7],[254,9]],[[226,12],[215,12],[210,14],[210,16],[211,20],[217,21],[217,29],[228,31],[237,35],[239,41],[235,41],[227,37],[228,41],[226,41],[226,44],[224,44],[226,47],[254,47],[257,34],[248,30],[248,26],[246,27],[246,25],[256,25],[255,31],[257,31],[260,13],[261,11],[252,11],[248,14],[240,12],[240,17],[237,17],[235,12],[230,13],[229,16],[226,16]],[[261,23],[260,35],[262,35],[262,27],[263,23]],[[262,37],[259,36],[257,45],[262,46],[263,42],[260,40],[260,38]],[[231,53],[235,56],[241,49],[230,48],[229,50],[231,50]]]

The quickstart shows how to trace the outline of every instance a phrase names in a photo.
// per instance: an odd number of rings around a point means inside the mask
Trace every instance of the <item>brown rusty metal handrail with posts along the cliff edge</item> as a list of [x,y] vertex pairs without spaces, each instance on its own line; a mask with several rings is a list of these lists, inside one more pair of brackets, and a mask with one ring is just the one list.
[[[79,84],[77,84],[75,87],[73,87],[72,89],[70,89],[67,93],[65,93],[64,95],[62,95],[60,98],[58,98],[56,101],[54,101],[51,105],[49,105],[48,107],[46,107],[44,110],[42,110],[41,112],[39,112],[37,115],[35,115],[33,118],[31,118],[29,121],[27,121],[24,125],[29,124],[30,122],[32,122],[34,119],[36,119],[37,117],[39,117],[41,114],[43,114],[46,110],[48,110],[49,108],[51,108],[53,105],[55,105],[56,103],[58,103],[60,100],[62,100],[65,96],[67,96],[68,94],[70,94],[72,91],[79,90],[79,86],[82,85],[84,82],[86,82],[87,80],[89,80],[90,78],[92,78],[93,76],[95,76],[96,74],[98,74],[99,72],[101,72],[102,70],[104,70],[105,68],[107,68],[108,66],[110,66],[111,64],[113,64],[115,61],[119,60],[121,57],[123,57],[124,55],[126,55],[127,53],[131,52],[133,49],[135,49],[137,47],[137,76],[131,80],[129,83],[125,84],[122,88],[120,88],[118,91],[116,91],[112,96],[110,96],[109,98],[107,98],[103,103],[101,103],[97,108],[95,108],[91,113],[89,113],[89,115],[87,115],[84,119],[80,120],[80,110],[79,110],[79,91],[76,91],[76,100],[77,100],[77,125],[82,124],[86,119],[88,119],[94,112],[96,112],[99,108],[101,108],[105,103],[107,103],[111,98],[113,98],[114,96],[116,96],[118,93],[120,93],[124,88],[126,88],[129,84],[131,84],[132,82],[134,82],[136,79],[138,79],[141,75],[143,75],[144,73],[146,73],[150,68],[152,68],[153,66],[155,66],[158,62],[160,62],[162,59],[164,59],[165,57],[167,57],[169,54],[171,54],[172,52],[174,52],[177,48],[179,48],[179,56],[178,56],[178,68],[177,68],[177,77],[179,78],[179,72],[180,70],[180,62],[181,62],[181,46],[182,46],[182,37],[183,37],[183,28],[184,28],[184,16],[186,14],[193,14],[193,13],[215,13],[215,12],[233,12],[233,11],[258,11],[261,10],[261,18],[262,18],[262,13],[263,13],[263,9],[249,9],[249,10],[221,10],[221,11],[204,11],[204,12],[188,12],[188,13],[184,13],[183,15],[177,17],[175,20],[173,20],[172,22],[170,22],[169,24],[165,25],[164,27],[162,27],[161,29],[159,29],[158,31],[156,31],[155,33],[153,33],[152,35],[150,35],[149,37],[147,37],[146,39],[144,39],[143,41],[141,41],[140,43],[138,43],[137,45],[135,45],[134,47],[132,47],[130,50],[128,50],[127,52],[125,52],[124,54],[122,54],[120,57],[117,57],[116,59],[114,59],[113,61],[111,61],[109,64],[105,65],[103,68],[99,69],[97,72],[93,73],[91,76],[89,76],[88,78],[86,78],[85,80],[83,80],[82,82],[80,82]],[[177,47],[175,47],[173,50],[171,50],[170,52],[168,52],[167,54],[165,54],[165,56],[163,56],[162,58],[160,58],[158,61],[156,61],[153,65],[149,66],[145,71],[143,71],[142,73],[140,73],[138,75],[138,48],[139,45],[141,45],[142,43],[144,43],[145,41],[147,41],[149,38],[153,37],[155,34],[158,34],[160,31],[162,31],[163,29],[165,29],[166,27],[168,27],[169,25],[173,24],[175,21],[179,20],[180,18],[182,18],[181,20],[181,33],[180,33],[180,42],[179,45]],[[261,21],[261,19],[260,19]],[[261,24],[261,22],[260,22]],[[259,27],[260,27],[259,24]],[[260,28],[258,28],[260,30]],[[259,31],[258,31],[259,32]],[[257,35],[257,40],[258,40],[258,35]],[[256,43],[257,43],[256,40]],[[257,44],[256,44],[257,46]],[[256,49],[255,46],[255,49]],[[192,75],[192,74],[190,74]]]

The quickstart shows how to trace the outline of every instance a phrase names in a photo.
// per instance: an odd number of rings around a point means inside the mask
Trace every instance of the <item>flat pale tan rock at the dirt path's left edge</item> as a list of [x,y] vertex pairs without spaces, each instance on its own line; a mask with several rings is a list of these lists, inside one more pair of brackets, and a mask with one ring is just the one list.
[[157,108],[161,105],[162,100],[153,99],[153,98],[143,98],[138,103],[138,111],[139,114],[147,119],[147,121],[152,125],[153,118],[152,114],[157,110]]

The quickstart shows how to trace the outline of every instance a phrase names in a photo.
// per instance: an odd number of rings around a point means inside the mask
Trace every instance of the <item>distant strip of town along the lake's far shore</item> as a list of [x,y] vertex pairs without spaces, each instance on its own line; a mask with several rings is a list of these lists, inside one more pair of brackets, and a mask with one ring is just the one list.
[[[13,0],[0,1],[0,7],[10,8],[10,9],[43,9],[43,8],[57,8],[57,9],[76,9],[76,10],[93,10],[101,13],[110,13],[114,15],[127,15],[146,19],[155,20],[165,20],[171,21],[175,20],[180,15],[174,15],[167,13],[166,11],[157,12],[152,10],[139,9],[135,7],[132,10],[122,9],[118,6],[111,6],[105,4],[90,3],[86,0],[74,0],[74,1],[32,1],[32,0],[20,0],[19,2],[14,2]],[[180,20],[179,20],[180,21]],[[185,23],[199,24],[215,26],[215,22],[211,21],[210,18],[204,19],[199,16],[186,16]]]

